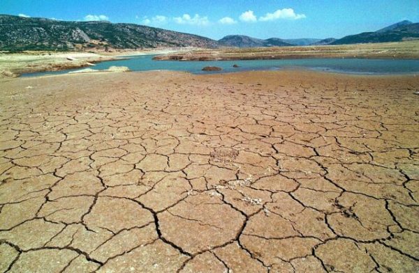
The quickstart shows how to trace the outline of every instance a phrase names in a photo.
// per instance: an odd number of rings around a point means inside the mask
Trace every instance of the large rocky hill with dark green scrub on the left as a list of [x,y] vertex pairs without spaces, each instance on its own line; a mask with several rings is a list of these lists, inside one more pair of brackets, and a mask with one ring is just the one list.
[[0,15],[0,50],[218,47],[210,38],[138,24],[66,22]]

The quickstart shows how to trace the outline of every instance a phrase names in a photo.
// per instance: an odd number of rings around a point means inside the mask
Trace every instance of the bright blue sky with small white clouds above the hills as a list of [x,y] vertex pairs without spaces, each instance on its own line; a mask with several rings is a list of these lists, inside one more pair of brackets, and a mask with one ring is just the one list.
[[419,22],[419,0],[0,0],[0,14],[147,24],[214,39],[341,38]]

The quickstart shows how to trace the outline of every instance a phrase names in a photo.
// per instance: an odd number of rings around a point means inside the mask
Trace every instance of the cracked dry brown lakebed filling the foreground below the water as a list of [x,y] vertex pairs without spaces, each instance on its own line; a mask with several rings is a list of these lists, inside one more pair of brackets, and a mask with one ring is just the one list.
[[418,272],[419,77],[0,86],[0,272]]

